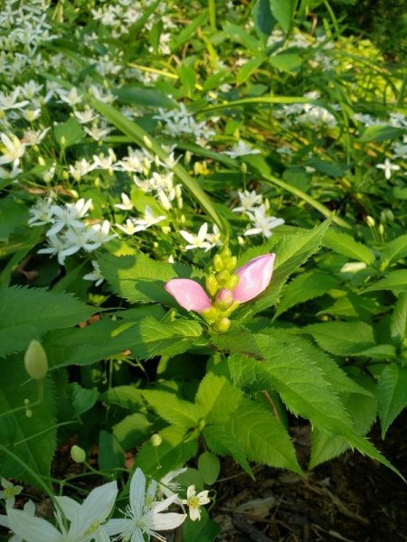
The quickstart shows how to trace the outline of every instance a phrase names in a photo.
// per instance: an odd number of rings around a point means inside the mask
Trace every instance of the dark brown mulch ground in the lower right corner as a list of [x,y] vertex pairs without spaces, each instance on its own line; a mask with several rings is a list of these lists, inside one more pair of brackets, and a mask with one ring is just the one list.
[[[371,439],[407,476],[407,413],[385,441]],[[298,457],[308,455],[308,428],[293,427]],[[211,516],[222,526],[220,542],[407,541],[407,484],[359,453],[344,453],[307,477],[259,466],[256,481],[236,466],[222,465]]]

